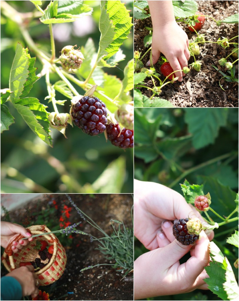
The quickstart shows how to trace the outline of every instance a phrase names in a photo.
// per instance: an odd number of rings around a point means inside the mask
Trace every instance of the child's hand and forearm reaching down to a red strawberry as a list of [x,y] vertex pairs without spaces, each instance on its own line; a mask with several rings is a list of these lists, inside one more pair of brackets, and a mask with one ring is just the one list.
[[[153,23],[152,61],[156,64],[160,52],[167,58],[174,71],[187,67],[190,58],[187,34],[175,21],[171,1],[148,1]],[[150,65],[150,61],[146,65]],[[175,77],[182,82],[185,74],[175,72]]]

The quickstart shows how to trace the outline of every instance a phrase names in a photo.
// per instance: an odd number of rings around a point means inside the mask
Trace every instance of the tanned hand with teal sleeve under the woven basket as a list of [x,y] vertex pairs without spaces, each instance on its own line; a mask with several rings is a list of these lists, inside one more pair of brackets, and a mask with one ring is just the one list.
[[22,266],[20,268],[17,268],[10,273],[8,273],[6,276],[11,276],[17,279],[17,281],[20,283],[22,287],[22,295],[23,296],[29,296],[32,295],[32,297],[36,297],[39,293],[38,287],[39,282],[37,280],[37,275],[34,273],[34,268],[32,265],[26,265]]

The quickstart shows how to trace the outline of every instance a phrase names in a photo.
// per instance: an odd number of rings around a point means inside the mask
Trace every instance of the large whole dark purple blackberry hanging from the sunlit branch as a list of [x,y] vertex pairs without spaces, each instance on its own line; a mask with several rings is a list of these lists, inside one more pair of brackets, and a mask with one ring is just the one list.
[[105,131],[107,110],[105,104],[97,97],[83,96],[72,104],[71,116],[75,126],[91,136]]

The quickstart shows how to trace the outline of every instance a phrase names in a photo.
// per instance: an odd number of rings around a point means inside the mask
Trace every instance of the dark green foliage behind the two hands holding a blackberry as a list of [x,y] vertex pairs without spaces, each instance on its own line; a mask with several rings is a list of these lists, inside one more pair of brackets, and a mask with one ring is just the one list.
[[[134,176],[141,181],[166,185],[182,193],[179,184],[204,185],[211,195],[211,207],[227,216],[236,207],[238,192],[238,109],[148,108],[134,110]],[[215,222],[221,220],[211,211]],[[184,217],[182,217],[184,218]],[[213,241],[234,268],[238,249],[226,243],[237,222],[214,230]],[[147,252],[135,238],[135,259]],[[187,256],[182,261],[187,260]],[[220,300],[211,291],[162,296],[147,300]]]

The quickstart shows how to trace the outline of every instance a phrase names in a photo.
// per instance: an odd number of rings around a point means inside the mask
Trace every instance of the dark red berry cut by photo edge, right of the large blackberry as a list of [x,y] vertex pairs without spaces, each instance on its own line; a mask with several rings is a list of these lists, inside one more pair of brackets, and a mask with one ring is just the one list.
[[107,124],[106,132],[107,138],[111,141],[113,145],[121,148],[134,147],[134,130],[123,128],[120,132],[120,126],[118,123],[116,123]]

